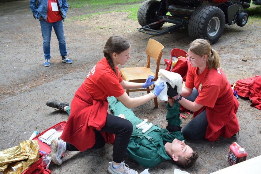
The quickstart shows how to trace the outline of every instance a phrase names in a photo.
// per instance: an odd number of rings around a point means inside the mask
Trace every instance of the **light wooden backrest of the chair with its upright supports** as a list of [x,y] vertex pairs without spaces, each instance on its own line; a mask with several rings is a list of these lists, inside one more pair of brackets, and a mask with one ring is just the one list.
[[155,77],[155,81],[158,78],[158,72],[159,72],[159,68],[160,68],[160,62],[161,62],[161,56],[162,56],[162,50],[163,50],[164,46],[159,43],[158,41],[154,40],[154,39],[149,39],[149,42],[147,44],[147,48],[146,48],[146,54],[147,54],[147,68],[150,68],[150,58],[152,57],[155,61],[156,61],[156,71],[154,74]]

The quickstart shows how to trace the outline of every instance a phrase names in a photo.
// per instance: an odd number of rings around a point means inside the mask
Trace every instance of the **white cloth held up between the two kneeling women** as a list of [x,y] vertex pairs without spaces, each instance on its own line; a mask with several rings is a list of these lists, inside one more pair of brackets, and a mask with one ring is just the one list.
[[172,88],[174,88],[175,85],[177,85],[178,87],[177,92],[178,93],[182,92],[182,77],[180,74],[160,69],[158,74],[158,79],[157,81],[155,81],[155,85],[161,81],[164,82],[164,89],[159,94],[161,100],[168,101],[168,95],[167,95],[168,85],[166,84],[166,82],[168,82],[172,86]]

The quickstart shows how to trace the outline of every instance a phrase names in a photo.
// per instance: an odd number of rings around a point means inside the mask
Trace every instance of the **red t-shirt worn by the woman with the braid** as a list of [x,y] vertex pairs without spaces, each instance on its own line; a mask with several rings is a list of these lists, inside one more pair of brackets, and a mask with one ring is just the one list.
[[82,85],[94,100],[105,100],[108,96],[119,97],[125,92],[120,84],[123,79],[119,74],[118,66],[115,69],[118,77],[104,57],[89,72]]

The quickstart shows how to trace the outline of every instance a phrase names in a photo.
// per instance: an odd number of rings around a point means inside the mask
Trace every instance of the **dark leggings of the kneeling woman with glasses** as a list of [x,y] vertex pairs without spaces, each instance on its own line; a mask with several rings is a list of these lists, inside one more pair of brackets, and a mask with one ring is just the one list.
[[[184,98],[194,102],[198,95],[198,91],[194,88],[191,95]],[[204,110],[195,118],[193,118],[190,122],[188,122],[182,128],[181,132],[185,139],[202,139],[205,138],[207,126],[208,122],[206,119],[206,110]]]

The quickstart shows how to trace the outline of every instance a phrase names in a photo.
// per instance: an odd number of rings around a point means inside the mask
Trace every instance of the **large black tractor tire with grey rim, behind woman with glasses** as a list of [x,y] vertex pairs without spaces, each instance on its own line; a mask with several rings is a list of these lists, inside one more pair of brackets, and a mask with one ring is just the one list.
[[209,40],[214,44],[223,34],[225,15],[216,6],[203,6],[192,13],[188,21],[188,34],[195,40],[199,38]]

